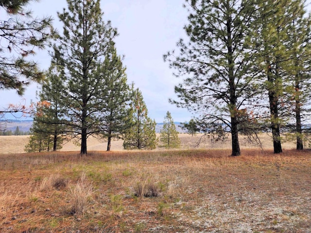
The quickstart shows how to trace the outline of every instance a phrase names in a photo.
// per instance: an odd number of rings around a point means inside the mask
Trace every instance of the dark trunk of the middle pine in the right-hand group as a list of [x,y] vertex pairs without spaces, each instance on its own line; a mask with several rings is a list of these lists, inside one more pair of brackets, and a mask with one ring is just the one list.
[[274,153],[281,153],[282,152],[282,146],[281,146],[281,140],[280,140],[280,127],[278,123],[278,97],[276,94],[276,91],[274,90],[275,84],[273,80],[273,73],[272,68],[269,65],[268,66],[268,82],[272,84],[269,86],[268,95],[269,95],[269,105],[270,105],[270,116],[271,116],[271,130],[272,130],[272,137],[273,137],[273,149]]

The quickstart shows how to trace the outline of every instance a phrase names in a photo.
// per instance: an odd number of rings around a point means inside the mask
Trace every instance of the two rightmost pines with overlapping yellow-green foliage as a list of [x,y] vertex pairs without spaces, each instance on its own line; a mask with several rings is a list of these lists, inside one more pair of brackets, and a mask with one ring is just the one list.
[[310,16],[301,0],[257,1],[254,6],[258,10],[248,38],[255,74],[249,80],[256,83],[258,92],[254,112],[270,128],[275,153],[282,152],[282,129],[288,130],[286,125],[294,121],[297,149],[302,149],[298,135],[302,133],[302,109],[307,110],[305,97],[310,95]]

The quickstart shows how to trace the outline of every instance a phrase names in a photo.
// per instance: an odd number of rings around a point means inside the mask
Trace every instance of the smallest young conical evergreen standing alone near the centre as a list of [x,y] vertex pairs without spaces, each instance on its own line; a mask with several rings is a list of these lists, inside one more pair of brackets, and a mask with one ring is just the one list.
[[180,139],[178,138],[178,132],[176,130],[175,123],[168,111],[163,121],[163,129],[160,134],[160,141],[164,144],[167,149],[180,147]]

